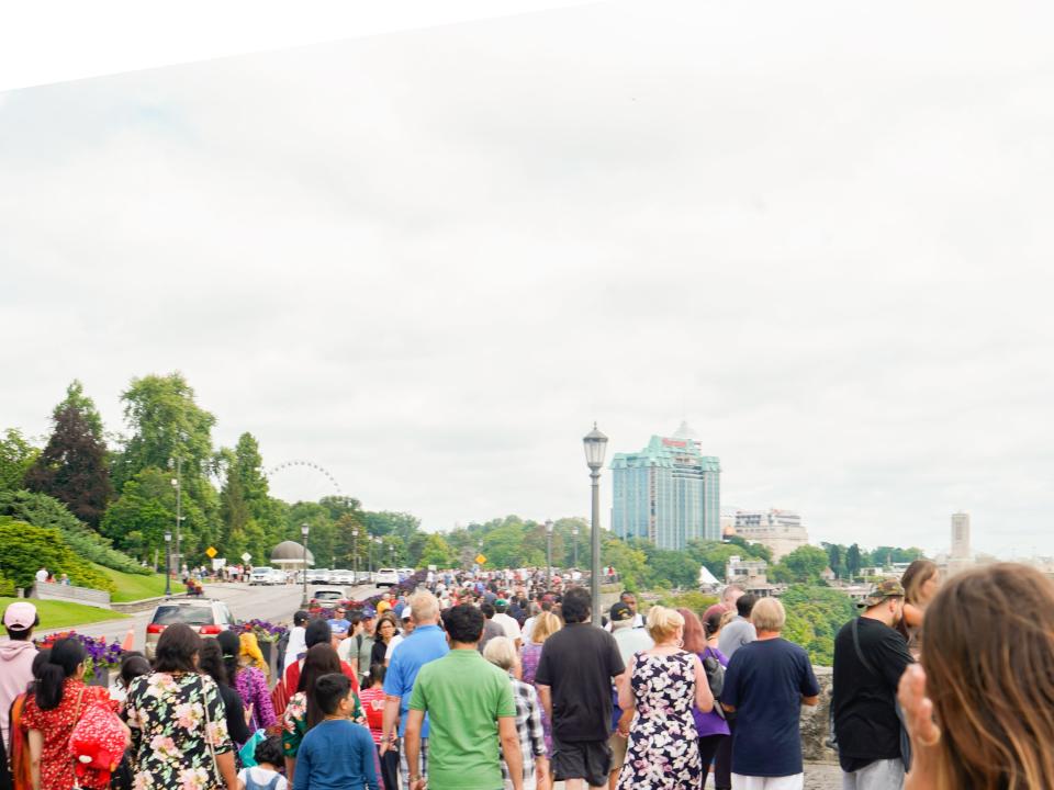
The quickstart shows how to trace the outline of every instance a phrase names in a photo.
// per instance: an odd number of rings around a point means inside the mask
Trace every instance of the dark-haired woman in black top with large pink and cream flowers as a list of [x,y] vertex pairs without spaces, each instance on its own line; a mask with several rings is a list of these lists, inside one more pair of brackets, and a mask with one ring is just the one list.
[[201,636],[183,623],[157,641],[154,672],[128,685],[124,715],[132,727],[137,790],[192,785],[237,790],[234,745],[215,681],[198,670]]

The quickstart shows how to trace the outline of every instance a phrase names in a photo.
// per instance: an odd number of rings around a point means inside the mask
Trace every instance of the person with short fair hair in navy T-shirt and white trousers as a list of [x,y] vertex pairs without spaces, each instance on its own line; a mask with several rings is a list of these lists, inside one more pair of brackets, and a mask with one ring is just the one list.
[[820,687],[809,654],[780,637],[786,612],[776,598],[762,598],[751,622],[754,642],[742,645],[725,670],[721,704],[736,713],[732,790],[801,790],[801,706],[819,702]]

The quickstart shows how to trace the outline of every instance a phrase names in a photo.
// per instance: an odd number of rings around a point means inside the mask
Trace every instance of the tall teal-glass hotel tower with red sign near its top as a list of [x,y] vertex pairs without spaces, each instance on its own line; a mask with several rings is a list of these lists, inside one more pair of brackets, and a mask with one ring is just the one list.
[[720,540],[721,465],[704,455],[686,422],[672,437],[651,437],[637,453],[612,461],[612,529],[660,549]]

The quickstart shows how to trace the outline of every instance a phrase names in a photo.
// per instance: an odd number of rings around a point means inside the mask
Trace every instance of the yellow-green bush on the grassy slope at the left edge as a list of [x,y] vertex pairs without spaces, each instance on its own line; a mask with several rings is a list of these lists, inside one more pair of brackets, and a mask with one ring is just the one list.
[[79,557],[57,529],[0,516],[0,574],[16,587],[32,587],[42,566],[56,576],[67,574],[79,587],[116,592],[113,582]]

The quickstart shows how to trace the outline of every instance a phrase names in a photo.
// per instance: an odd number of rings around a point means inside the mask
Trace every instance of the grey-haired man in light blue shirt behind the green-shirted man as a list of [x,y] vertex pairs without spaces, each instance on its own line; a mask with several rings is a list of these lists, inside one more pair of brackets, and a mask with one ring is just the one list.
[[[428,662],[442,658],[450,652],[447,635],[439,628],[439,601],[427,590],[415,592],[410,599],[414,631],[399,644],[384,675],[384,722],[381,729],[381,756],[395,746],[395,720],[399,719],[399,736],[406,734],[410,713],[410,695],[414,690],[417,673]],[[428,719],[421,730],[421,757],[411,770],[406,752],[400,754],[400,772],[403,787],[410,787],[411,774],[428,777]]]

